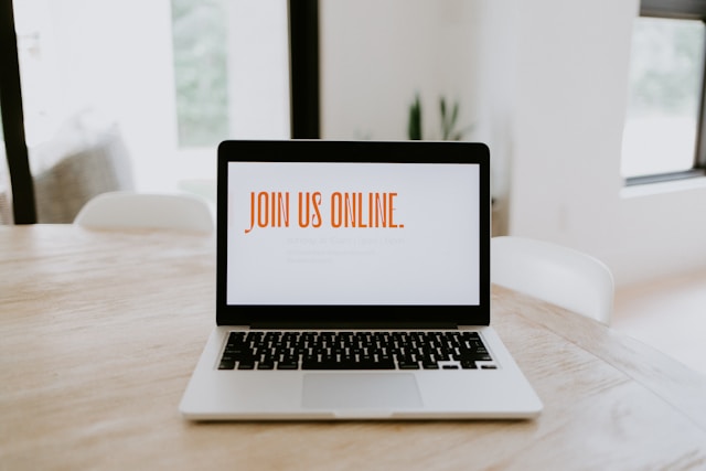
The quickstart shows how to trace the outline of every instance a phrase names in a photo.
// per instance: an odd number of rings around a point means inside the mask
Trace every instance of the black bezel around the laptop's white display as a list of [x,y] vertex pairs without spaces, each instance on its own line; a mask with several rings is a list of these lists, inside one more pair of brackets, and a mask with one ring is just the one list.
[[[228,162],[472,163],[480,165],[479,306],[227,304]],[[286,328],[490,324],[490,150],[466,141],[226,140],[217,149],[216,323]]]

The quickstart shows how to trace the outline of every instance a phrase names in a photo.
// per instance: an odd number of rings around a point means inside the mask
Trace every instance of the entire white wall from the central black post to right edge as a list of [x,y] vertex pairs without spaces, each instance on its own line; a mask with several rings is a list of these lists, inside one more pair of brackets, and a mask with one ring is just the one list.
[[593,254],[618,285],[706,267],[704,179],[625,190],[620,176],[638,11],[639,0],[323,2],[324,137],[368,126],[370,138],[404,138],[392,126],[404,130],[414,86],[452,88],[471,138],[491,147],[511,234]]

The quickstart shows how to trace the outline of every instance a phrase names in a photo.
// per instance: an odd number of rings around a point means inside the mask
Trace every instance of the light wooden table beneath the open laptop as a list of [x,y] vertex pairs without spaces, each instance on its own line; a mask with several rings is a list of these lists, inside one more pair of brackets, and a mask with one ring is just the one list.
[[211,236],[0,226],[0,470],[706,469],[705,376],[499,287],[536,420],[188,422],[214,254]]

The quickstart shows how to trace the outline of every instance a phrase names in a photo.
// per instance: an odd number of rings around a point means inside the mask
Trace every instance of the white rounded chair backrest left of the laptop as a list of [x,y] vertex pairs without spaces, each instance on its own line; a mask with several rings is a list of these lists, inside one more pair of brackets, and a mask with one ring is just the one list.
[[101,193],[78,212],[74,224],[94,228],[173,228],[212,233],[208,204],[192,194],[117,191]]

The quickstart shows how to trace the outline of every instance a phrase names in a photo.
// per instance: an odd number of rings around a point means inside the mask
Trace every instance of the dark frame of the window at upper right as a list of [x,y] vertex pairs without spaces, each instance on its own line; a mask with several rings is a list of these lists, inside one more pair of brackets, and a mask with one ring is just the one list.
[[[666,18],[675,20],[700,20],[706,26],[706,0],[641,0],[640,17]],[[706,55],[706,41],[703,44]],[[628,176],[625,186],[692,179],[706,175],[706,60],[702,66],[700,103],[694,164],[689,170]]]

